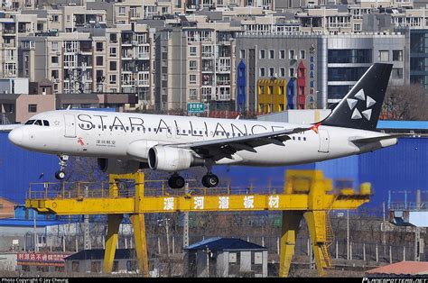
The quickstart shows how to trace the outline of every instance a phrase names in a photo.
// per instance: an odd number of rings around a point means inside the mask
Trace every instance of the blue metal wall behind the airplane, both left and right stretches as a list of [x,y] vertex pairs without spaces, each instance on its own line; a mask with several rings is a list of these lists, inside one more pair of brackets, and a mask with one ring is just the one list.
[[[28,184],[54,181],[57,169],[56,156],[24,151],[8,141],[7,132],[0,132],[0,196],[23,204]],[[214,172],[233,187],[283,187],[285,169],[322,169],[328,178],[354,179],[357,185],[371,182],[375,196],[369,205],[378,205],[387,201],[388,190],[428,190],[428,139],[401,138],[390,148],[316,164],[276,168],[220,166]]]

